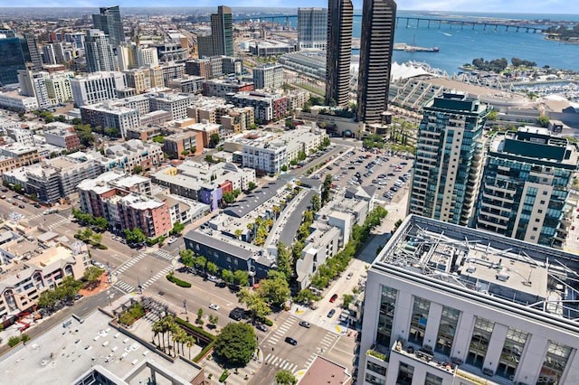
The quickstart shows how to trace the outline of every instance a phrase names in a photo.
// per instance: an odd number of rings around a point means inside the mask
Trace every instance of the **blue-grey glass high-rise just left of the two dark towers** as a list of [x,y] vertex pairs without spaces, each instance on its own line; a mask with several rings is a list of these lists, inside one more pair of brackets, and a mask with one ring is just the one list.
[[298,48],[325,50],[327,46],[327,9],[298,8]]

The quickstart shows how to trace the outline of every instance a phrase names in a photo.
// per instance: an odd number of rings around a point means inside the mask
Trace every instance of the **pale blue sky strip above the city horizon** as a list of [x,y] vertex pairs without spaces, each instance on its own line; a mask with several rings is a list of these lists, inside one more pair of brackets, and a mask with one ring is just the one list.
[[[356,9],[362,9],[362,0],[353,0]],[[399,10],[415,11],[454,11],[454,12],[481,12],[481,13],[524,13],[524,14],[579,14],[577,0],[399,0],[396,2]],[[255,7],[308,7],[327,6],[324,0],[0,0],[2,6],[17,7],[99,7],[109,5],[122,6],[255,6]],[[122,13],[122,10],[121,10]]]

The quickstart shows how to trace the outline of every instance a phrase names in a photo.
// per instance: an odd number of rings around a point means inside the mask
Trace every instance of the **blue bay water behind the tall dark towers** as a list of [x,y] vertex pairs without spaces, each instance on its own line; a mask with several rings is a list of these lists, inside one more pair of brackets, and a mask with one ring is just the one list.
[[[355,14],[361,14],[356,11]],[[565,20],[579,22],[579,14],[481,14],[481,13],[426,13],[399,11],[398,16],[408,17],[432,17],[450,18],[460,20],[473,20],[475,18],[489,17],[490,19],[516,19],[516,20]],[[361,30],[361,18],[355,17],[353,36],[359,37]],[[426,22],[416,25],[411,21],[406,27],[406,21],[401,20],[396,26],[394,42],[405,42],[422,47],[439,47],[440,52],[394,52],[394,61],[424,61],[433,68],[447,71],[449,74],[459,72],[459,67],[472,62],[475,58],[492,60],[506,58],[510,61],[516,57],[527,61],[535,61],[540,67],[549,65],[552,68],[579,71],[579,44],[564,44],[560,42],[546,41],[542,33],[518,33],[511,27],[505,31],[505,27],[483,27],[478,25],[475,30],[472,26],[465,25],[462,29],[458,25],[431,23],[427,28]]]

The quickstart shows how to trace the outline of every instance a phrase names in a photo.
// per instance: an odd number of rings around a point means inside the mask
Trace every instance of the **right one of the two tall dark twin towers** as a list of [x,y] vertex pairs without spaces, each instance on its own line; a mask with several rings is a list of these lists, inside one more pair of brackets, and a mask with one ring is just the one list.
[[361,122],[381,123],[388,107],[395,23],[394,0],[364,0],[357,100]]

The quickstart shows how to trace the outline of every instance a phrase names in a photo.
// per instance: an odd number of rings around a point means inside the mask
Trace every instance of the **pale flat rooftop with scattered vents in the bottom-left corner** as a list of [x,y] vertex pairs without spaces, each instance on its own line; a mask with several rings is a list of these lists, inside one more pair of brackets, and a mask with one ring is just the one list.
[[[146,380],[147,362],[172,373],[177,383],[188,383],[199,372],[183,360],[169,362],[125,333],[109,326],[110,317],[99,310],[83,322],[71,317],[62,324],[14,348],[0,358],[3,377],[14,384],[72,384],[92,367],[102,367],[126,383]],[[143,375],[136,375],[136,371]],[[128,378],[130,379],[128,380]],[[186,382],[185,382],[186,381]]]

